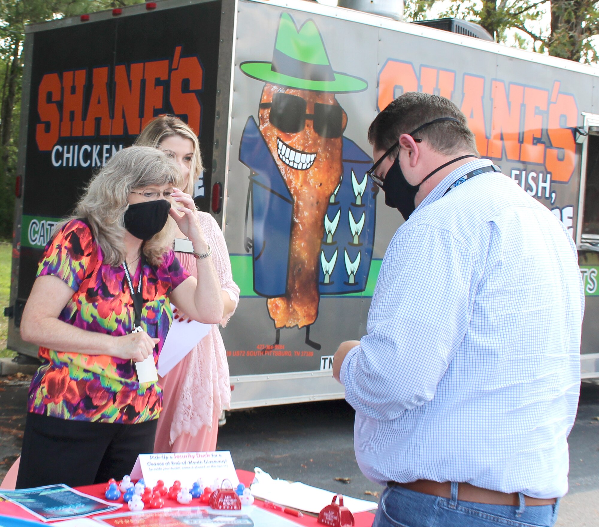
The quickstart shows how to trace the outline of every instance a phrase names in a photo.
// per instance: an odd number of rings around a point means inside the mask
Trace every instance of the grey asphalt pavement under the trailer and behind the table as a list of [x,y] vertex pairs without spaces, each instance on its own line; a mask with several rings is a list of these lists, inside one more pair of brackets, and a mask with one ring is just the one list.
[[[27,377],[0,377],[0,480],[20,453],[28,386]],[[231,450],[237,468],[376,501],[382,489],[362,475],[353,454],[353,417],[344,401],[235,411],[217,449]],[[598,527],[599,385],[583,385],[568,441],[570,492],[556,527]]]

